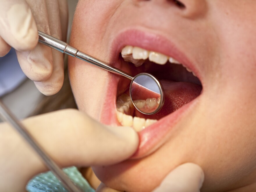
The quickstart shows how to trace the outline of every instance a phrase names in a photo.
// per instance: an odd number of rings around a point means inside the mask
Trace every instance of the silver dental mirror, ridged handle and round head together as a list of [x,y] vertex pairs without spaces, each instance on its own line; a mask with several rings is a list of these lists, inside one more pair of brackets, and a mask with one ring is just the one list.
[[[99,61],[98,59],[89,56],[78,49],[71,47],[67,43],[58,40],[50,35],[38,31],[39,40],[38,42],[47,45],[61,53],[65,53],[72,57],[79,58],[83,61],[101,67],[109,72],[121,75],[131,80],[130,85],[130,97],[135,108],[143,114],[153,115],[159,112],[164,103],[164,94],[161,83],[151,74],[141,73],[132,77],[128,73],[119,70],[115,67],[109,66],[106,63]],[[149,105],[145,105],[148,103]]]

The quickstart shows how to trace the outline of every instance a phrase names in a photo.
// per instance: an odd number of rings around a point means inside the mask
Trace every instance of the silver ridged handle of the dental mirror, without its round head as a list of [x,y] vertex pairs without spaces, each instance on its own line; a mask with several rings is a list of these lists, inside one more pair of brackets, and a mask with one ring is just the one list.
[[98,59],[83,53],[82,51],[79,51],[78,49],[71,47],[70,45],[68,45],[67,43],[56,39],[50,35],[47,35],[41,31],[38,31],[38,35],[39,35],[39,40],[38,42],[47,45],[48,47],[51,47],[53,49],[56,49],[57,51],[60,51],[61,53],[65,53],[68,54],[72,57],[76,57],[79,58],[83,61],[86,61],[88,63],[91,63],[93,65],[96,65],[98,67],[101,67],[102,69],[105,69],[109,72],[121,75],[122,77],[125,77],[127,79],[132,80],[133,77],[131,75],[129,75],[128,73],[119,70],[115,67],[109,66],[108,64],[104,63],[103,61],[99,61]]

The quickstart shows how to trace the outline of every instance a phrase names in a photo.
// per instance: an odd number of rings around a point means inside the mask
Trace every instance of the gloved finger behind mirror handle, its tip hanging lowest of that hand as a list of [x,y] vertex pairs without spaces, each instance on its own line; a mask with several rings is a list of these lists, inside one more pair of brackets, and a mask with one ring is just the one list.
[[[58,0],[46,0],[50,33],[57,39],[62,39],[61,19]],[[35,82],[38,90],[45,95],[57,93],[64,80],[64,56],[61,52],[52,49],[53,71],[46,81]]]

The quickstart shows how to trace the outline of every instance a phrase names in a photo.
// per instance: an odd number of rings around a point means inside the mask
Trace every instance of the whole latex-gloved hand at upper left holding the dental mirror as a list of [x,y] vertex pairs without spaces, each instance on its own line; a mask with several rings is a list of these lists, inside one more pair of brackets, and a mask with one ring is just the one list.
[[66,40],[66,0],[1,0],[0,56],[11,47],[29,79],[45,95],[57,93],[63,85],[63,54],[38,44],[38,30]]

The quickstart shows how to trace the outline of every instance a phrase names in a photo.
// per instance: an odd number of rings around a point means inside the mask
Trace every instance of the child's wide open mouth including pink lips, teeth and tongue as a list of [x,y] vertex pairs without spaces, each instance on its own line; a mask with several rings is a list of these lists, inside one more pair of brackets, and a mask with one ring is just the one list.
[[[132,76],[146,72],[159,79],[165,93],[163,108],[154,115],[140,113],[129,99],[131,81],[111,75],[99,117],[104,124],[133,127],[138,132],[140,143],[132,159],[145,157],[169,141],[175,125],[197,104],[195,98],[201,95],[203,84],[198,66],[173,42],[146,31],[128,29],[119,33],[112,42],[111,61]],[[154,107],[157,100],[137,102],[141,107]]]

